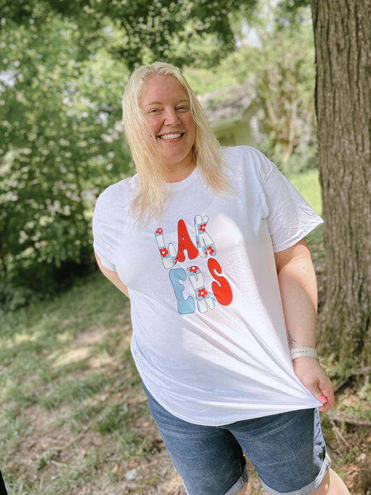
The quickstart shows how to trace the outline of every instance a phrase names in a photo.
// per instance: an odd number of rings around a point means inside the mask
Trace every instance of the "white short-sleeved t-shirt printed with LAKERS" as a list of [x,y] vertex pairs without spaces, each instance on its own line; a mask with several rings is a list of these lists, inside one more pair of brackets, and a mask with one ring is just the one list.
[[267,157],[223,150],[235,194],[216,196],[196,168],[168,185],[161,221],[139,230],[138,178],[97,201],[94,248],[129,290],[132,354],[145,386],[191,423],[318,407],[294,375],[274,251],[322,219]]

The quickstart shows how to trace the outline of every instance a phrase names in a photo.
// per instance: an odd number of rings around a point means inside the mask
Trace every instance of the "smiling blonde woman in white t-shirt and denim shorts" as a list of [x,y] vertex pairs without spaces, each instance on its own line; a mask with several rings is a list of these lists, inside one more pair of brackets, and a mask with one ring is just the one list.
[[304,237],[322,220],[260,152],[220,150],[172,65],[134,71],[123,124],[137,174],[98,199],[95,253],[131,299],[132,354],[187,493],[246,493],[245,454],[269,494],[348,494],[318,417],[334,398]]

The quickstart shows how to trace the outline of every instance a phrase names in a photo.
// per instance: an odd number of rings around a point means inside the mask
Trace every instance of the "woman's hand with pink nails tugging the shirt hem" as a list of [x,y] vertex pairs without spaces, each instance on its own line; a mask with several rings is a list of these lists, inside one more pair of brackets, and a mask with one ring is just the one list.
[[319,402],[322,402],[323,405],[319,407],[319,411],[329,411],[335,402],[333,384],[317,359],[299,357],[294,359],[292,363],[295,375],[301,383],[313,393]]

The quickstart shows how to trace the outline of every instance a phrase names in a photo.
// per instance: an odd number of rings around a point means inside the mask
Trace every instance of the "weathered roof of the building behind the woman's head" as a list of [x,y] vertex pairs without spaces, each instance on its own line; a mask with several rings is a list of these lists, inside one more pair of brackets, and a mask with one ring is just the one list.
[[239,120],[255,100],[256,91],[249,84],[227,86],[198,96],[212,127],[222,121]]

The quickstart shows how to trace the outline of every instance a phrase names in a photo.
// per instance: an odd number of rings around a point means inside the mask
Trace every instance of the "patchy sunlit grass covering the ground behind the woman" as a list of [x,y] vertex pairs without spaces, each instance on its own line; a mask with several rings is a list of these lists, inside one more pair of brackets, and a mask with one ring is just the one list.
[[[317,174],[290,180],[320,212]],[[319,276],[322,237],[321,227],[308,236]],[[9,495],[163,491],[156,464],[163,446],[130,354],[131,333],[127,299],[101,274],[1,316],[0,466]],[[362,403],[348,395],[342,410],[369,415],[370,401],[368,386]],[[325,427],[332,441],[331,423]],[[147,475],[127,481],[138,464],[149,466]]]

